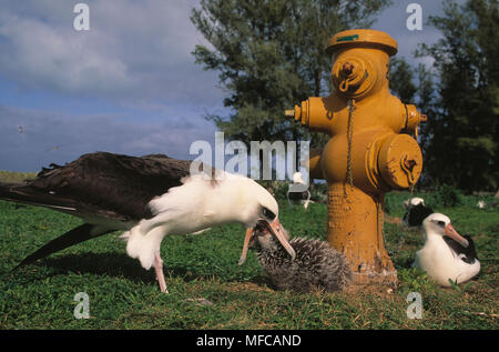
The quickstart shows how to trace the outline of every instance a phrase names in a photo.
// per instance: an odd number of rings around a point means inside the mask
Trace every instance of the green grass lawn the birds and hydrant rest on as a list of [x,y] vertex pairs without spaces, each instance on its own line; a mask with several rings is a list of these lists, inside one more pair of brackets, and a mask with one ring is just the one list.
[[[404,214],[401,201],[408,197],[388,194],[391,217]],[[478,280],[451,289],[435,285],[409,269],[422,244],[419,231],[386,223],[386,247],[399,286],[355,294],[274,291],[254,253],[237,266],[241,225],[165,238],[162,257],[170,294],[160,293],[152,270],[144,271],[126,255],[119,233],[10,272],[27,254],[81,221],[0,201],[0,329],[498,329],[499,210],[480,210],[476,201],[468,197],[459,207],[434,209],[449,215],[457,231],[472,235],[482,266]],[[283,202],[279,218],[292,237],[325,237],[324,204],[305,211]],[[90,319],[73,316],[78,292],[89,295]],[[409,292],[422,296],[420,320],[407,318]]]

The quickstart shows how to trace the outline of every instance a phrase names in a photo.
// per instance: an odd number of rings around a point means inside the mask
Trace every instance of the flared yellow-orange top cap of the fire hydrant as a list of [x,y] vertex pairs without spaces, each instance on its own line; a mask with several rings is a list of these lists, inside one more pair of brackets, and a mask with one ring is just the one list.
[[374,47],[385,50],[390,57],[398,51],[397,41],[389,34],[374,29],[352,29],[336,33],[328,42],[326,52],[353,47]]

